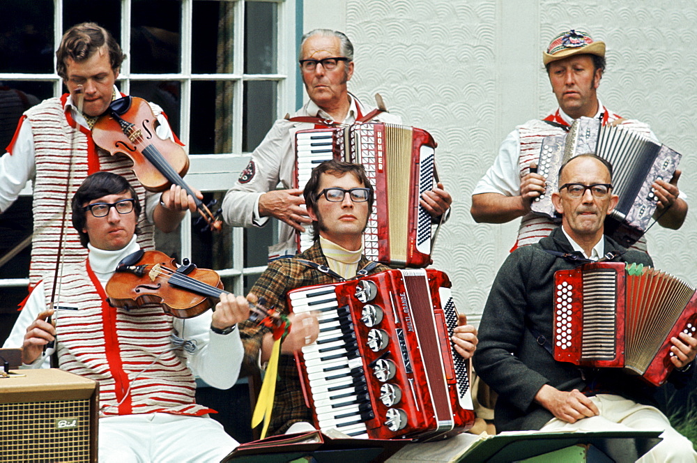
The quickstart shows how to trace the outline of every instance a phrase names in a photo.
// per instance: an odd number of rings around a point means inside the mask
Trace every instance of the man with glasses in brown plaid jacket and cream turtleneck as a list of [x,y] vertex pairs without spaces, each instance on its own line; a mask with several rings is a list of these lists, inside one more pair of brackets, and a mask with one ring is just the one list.
[[[362,234],[372,210],[373,188],[361,165],[323,162],[312,171],[303,194],[309,218],[316,226],[314,245],[294,258],[270,262],[250,291],[284,313],[288,312],[286,293],[291,289],[340,282],[361,270],[371,275],[388,269],[362,255]],[[312,429],[308,423],[312,413],[305,407],[292,354],[314,342],[319,324],[310,313],[291,314],[291,321],[291,331],[281,344],[278,375],[282,380],[276,386],[270,434]],[[460,322],[453,339],[459,354],[469,358],[477,343],[476,331],[465,324],[464,318]],[[273,346],[268,328],[245,322],[241,335],[245,365],[266,363]]]

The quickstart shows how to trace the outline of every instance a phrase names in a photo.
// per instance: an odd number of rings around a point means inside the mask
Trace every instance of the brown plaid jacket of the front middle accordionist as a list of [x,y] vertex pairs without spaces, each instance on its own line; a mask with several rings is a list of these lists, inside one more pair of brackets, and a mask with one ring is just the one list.
[[[260,298],[266,298],[266,307],[275,306],[277,310],[287,314],[286,293],[291,289],[312,286],[313,284],[337,282],[332,276],[298,261],[298,259],[305,259],[327,265],[327,259],[324,257],[319,242],[314,243],[311,248],[300,253],[296,258],[278,259],[271,262],[268,268],[261,274],[259,280],[256,280],[256,284],[254,284],[250,292]],[[369,263],[370,261],[365,256],[362,256],[358,263],[358,269],[364,268]],[[385,270],[388,270],[388,268],[378,265],[370,273],[373,274]],[[246,321],[240,324],[240,335],[245,346],[243,369],[256,368],[256,365],[259,365],[261,340],[266,333],[270,333],[270,330],[265,326],[254,326]],[[268,435],[282,434],[293,423],[298,421],[312,423],[312,413],[305,407],[295,358],[289,355],[281,355],[278,363],[276,397]]]

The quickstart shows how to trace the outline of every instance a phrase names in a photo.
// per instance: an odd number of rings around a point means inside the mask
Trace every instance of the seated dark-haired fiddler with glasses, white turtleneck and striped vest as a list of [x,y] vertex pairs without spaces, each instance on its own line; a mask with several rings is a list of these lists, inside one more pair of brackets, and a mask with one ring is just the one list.
[[238,443],[194,401],[194,372],[217,388],[235,384],[243,359],[236,324],[250,308],[233,294],[190,319],[159,305],[111,307],[104,287],[140,248],[140,212],[121,176],[87,177],[72,198],[72,222],[88,256],[63,266],[56,284],[47,278],[34,287],[5,347],[22,347],[23,368],[48,367],[56,349],[62,370],[99,382],[100,462],[220,461]]

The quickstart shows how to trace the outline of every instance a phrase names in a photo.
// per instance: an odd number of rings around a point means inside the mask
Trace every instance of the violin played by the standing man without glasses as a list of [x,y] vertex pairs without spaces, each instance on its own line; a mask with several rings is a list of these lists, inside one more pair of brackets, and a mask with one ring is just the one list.
[[112,101],[107,112],[95,122],[92,138],[112,155],[128,156],[133,161],[135,176],[146,190],[162,192],[172,184],[181,186],[194,198],[210,229],[220,232],[222,221],[217,217],[220,211],[211,213],[182,179],[189,169],[189,158],[181,145],[158,137],[155,129],[159,124],[146,100],[125,96]]

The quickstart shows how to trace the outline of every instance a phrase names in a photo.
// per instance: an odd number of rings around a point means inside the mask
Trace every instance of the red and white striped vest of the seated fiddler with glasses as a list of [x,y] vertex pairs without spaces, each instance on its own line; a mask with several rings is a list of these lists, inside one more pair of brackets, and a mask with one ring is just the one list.
[[54,315],[59,365],[99,381],[102,416],[214,412],[195,403],[194,377],[182,348],[169,340],[172,318],[162,308],[112,308],[89,260],[64,266],[59,290],[61,306],[78,308]]

